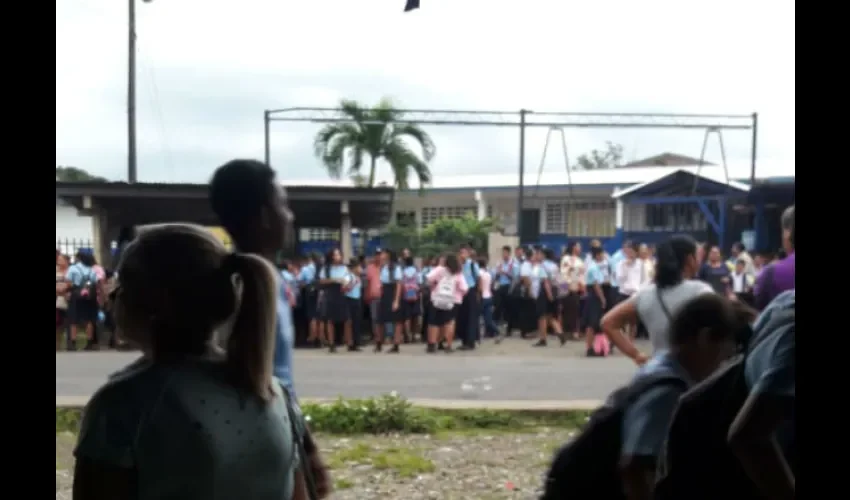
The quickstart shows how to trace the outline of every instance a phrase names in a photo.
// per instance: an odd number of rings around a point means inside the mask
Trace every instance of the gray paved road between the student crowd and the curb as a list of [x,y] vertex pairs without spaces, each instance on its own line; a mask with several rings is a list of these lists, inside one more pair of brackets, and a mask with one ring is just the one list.
[[[557,343],[557,341],[555,342]],[[426,356],[419,345],[399,355],[298,350],[296,390],[302,398],[369,397],[392,391],[411,399],[594,400],[604,399],[634,374],[622,356],[588,359],[581,344],[533,349],[528,341],[509,338],[485,343],[474,353]],[[56,396],[88,397],[107,376],[138,357],[134,353],[74,352],[56,354]],[[465,381],[489,377],[488,382]],[[489,385],[487,390],[485,386]]]

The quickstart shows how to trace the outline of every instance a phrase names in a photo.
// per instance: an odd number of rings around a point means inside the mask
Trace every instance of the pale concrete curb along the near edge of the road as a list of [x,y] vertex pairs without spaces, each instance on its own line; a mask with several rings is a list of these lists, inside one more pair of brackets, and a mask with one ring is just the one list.
[[[57,408],[79,408],[88,403],[86,396],[56,396]],[[336,398],[303,398],[302,403],[333,403]],[[592,411],[602,406],[602,401],[577,399],[571,401],[486,401],[480,399],[409,399],[420,408],[435,410],[502,410],[502,411]]]

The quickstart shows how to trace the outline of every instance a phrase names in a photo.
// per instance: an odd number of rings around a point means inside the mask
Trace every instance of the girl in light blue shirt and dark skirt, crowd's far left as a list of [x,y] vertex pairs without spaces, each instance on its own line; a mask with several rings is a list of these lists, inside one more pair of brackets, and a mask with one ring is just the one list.
[[71,299],[68,303],[68,322],[71,325],[67,346],[69,351],[77,350],[77,333],[80,326],[85,328],[86,332],[85,350],[94,349],[94,326],[97,323],[99,306],[98,280],[93,266],[94,256],[80,250],[77,252],[77,261],[68,268],[68,273],[65,275],[71,285]]

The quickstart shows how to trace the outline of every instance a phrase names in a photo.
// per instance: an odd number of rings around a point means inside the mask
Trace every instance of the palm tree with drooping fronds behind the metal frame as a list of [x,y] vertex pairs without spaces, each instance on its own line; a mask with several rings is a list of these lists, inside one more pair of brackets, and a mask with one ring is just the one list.
[[[358,184],[374,187],[378,160],[389,163],[395,187],[409,189],[411,171],[419,180],[420,189],[431,182],[428,162],[434,159],[436,148],[431,137],[418,125],[397,123],[403,116],[387,98],[372,108],[357,101],[343,100],[340,110],[346,120],[325,126],[313,141],[317,158],[321,158],[328,174],[339,179],[346,175]],[[411,149],[414,142],[422,149],[421,158]],[[361,173],[369,157],[369,175]]]

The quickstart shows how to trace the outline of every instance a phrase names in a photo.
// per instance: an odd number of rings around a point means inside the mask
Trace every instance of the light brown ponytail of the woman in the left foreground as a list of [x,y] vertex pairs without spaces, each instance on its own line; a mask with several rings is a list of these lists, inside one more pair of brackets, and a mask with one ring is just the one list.
[[237,274],[242,297],[227,340],[227,364],[236,384],[269,401],[272,389],[277,280],[271,265],[260,257],[235,253],[225,263],[227,279]]

